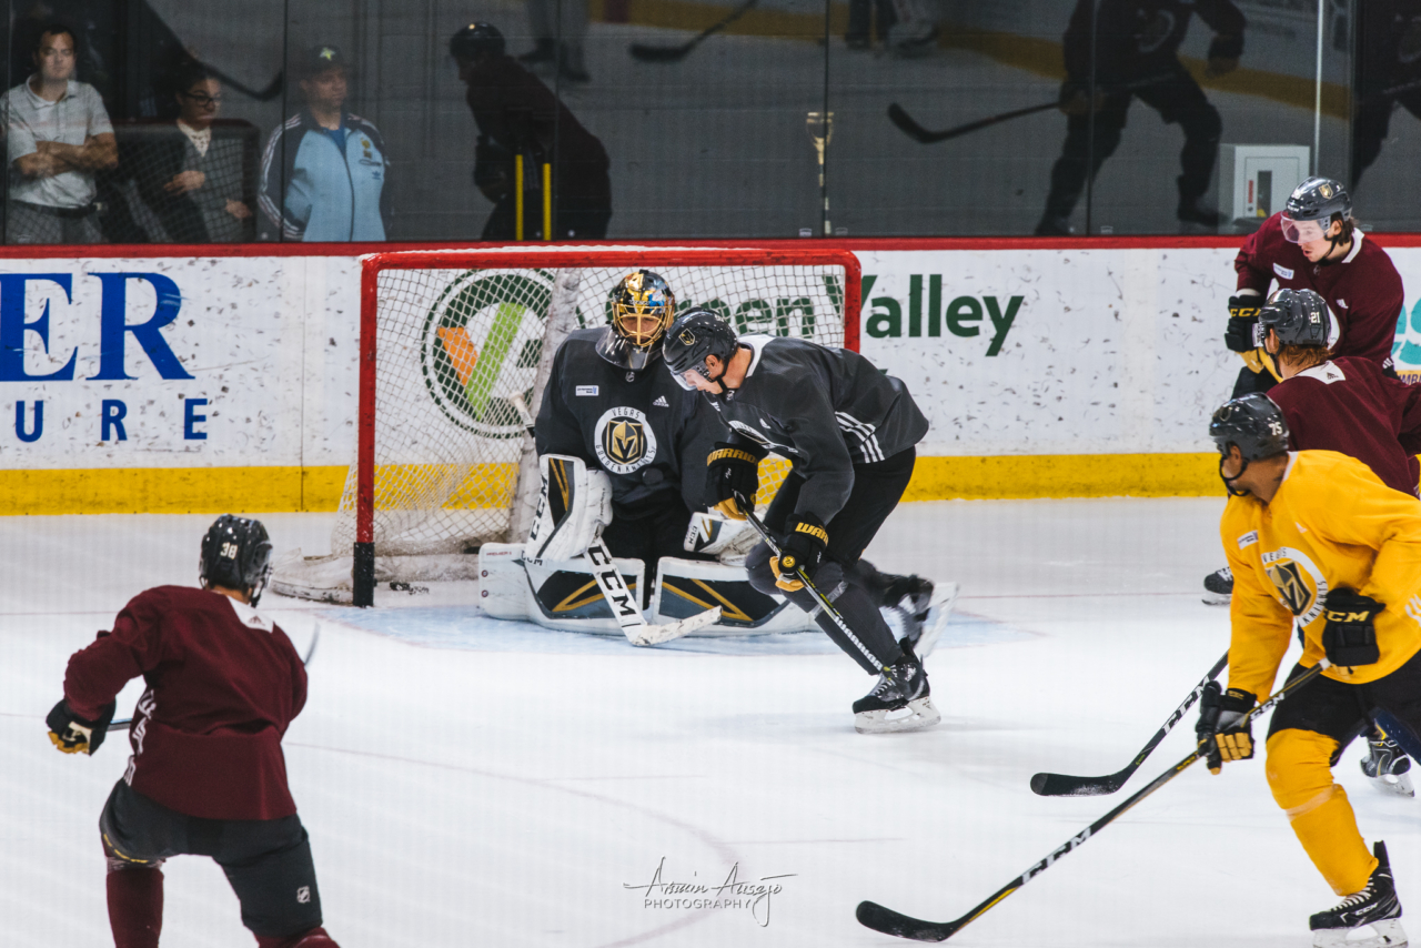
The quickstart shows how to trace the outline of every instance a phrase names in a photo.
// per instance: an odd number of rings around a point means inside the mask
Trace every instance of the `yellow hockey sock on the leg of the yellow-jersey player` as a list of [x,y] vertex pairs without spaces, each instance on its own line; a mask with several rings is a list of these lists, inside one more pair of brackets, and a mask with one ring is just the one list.
[[1268,739],[1268,786],[1297,841],[1339,895],[1360,893],[1377,868],[1347,792],[1333,783],[1337,742],[1314,731],[1287,728]]

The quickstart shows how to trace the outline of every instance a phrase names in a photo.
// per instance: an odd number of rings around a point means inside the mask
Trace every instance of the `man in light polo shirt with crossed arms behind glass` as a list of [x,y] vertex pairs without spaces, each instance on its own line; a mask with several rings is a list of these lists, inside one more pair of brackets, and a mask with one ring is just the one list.
[[74,78],[74,33],[41,30],[38,70],[0,98],[7,131],[10,243],[101,243],[94,172],[118,163],[118,145],[104,102]]

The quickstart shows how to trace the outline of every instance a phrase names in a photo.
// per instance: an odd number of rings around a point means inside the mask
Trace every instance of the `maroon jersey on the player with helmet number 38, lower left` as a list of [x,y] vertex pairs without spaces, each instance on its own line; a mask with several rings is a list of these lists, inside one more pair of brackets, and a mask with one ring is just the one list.
[[138,675],[148,689],[129,731],[129,786],[215,820],[296,813],[281,735],[306,704],[306,668],[271,620],[222,593],[148,590],[74,652],[64,698],[92,719]]

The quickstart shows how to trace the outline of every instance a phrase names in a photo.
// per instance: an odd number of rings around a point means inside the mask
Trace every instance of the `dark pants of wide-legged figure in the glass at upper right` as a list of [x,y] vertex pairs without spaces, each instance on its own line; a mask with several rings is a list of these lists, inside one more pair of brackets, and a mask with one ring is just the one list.
[[1179,151],[1182,172],[1178,178],[1179,202],[1195,202],[1204,196],[1214,176],[1223,121],[1194,77],[1179,65],[1172,75],[1137,90],[1106,88],[1107,95],[1098,112],[1071,115],[1066,121],[1066,144],[1061,146],[1061,156],[1052,168],[1052,190],[1046,199],[1046,213],[1053,217],[1069,217],[1074,210],[1086,189],[1087,173],[1094,179],[1100,166],[1120,146],[1133,97],[1158,111],[1165,124],[1178,122],[1184,129],[1184,148]]

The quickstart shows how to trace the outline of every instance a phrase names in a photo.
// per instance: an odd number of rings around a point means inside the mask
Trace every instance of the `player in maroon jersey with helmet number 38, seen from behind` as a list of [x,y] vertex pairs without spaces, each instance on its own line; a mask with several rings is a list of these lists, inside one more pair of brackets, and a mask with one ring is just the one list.
[[202,588],[138,594],[114,631],[70,658],[64,698],[45,719],[64,753],[98,750],[118,692],[138,675],[148,682],[134,755],[99,816],[117,948],[156,948],[161,867],[185,853],[222,866],[259,948],[335,948],[281,755],[306,704],[306,669],[253,608],[270,571],[261,523],[222,516],[202,540]]

